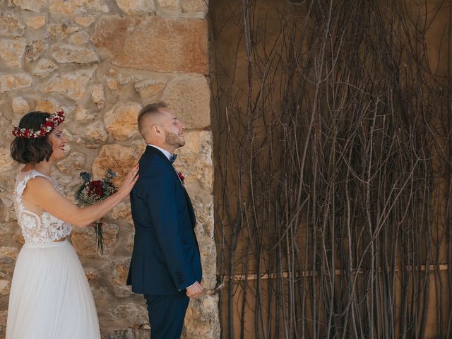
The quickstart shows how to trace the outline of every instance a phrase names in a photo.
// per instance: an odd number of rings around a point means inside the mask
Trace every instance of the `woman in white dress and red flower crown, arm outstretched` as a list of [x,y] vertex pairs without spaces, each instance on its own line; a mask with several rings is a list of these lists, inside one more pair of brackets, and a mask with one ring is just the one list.
[[25,239],[14,268],[6,339],[98,339],[93,295],[78,256],[66,237],[72,225],[84,227],[129,195],[138,165],[117,193],[78,208],[50,177],[64,157],[66,138],[59,126],[64,112],[30,112],[13,129],[11,157],[25,164],[16,179],[16,213]]

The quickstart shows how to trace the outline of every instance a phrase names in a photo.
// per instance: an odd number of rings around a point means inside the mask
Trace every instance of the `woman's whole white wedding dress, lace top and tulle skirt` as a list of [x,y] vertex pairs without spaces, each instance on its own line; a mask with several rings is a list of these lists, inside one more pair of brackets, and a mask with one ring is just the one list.
[[72,226],[32,211],[22,199],[37,176],[59,190],[35,170],[18,174],[15,203],[25,244],[14,268],[6,339],[100,339],[93,294],[76,251],[67,240],[55,242],[71,234]]

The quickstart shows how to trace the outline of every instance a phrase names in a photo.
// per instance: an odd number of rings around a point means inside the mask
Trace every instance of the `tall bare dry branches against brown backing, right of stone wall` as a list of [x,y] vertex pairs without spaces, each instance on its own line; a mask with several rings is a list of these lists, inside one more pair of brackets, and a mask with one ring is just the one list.
[[273,2],[210,5],[223,336],[452,338],[450,2]]

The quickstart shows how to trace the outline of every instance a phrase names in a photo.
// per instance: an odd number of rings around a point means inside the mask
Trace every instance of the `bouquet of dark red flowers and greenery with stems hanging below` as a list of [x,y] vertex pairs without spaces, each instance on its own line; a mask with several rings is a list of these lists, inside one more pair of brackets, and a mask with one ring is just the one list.
[[[117,186],[114,186],[112,179],[116,174],[108,169],[102,180],[91,179],[91,173],[81,172],[83,183],[76,192],[76,201],[81,206],[90,206],[93,203],[98,203],[105,198],[111,196],[118,191]],[[102,255],[104,253],[104,244],[102,242],[102,219],[94,222],[94,229],[96,233],[97,252]]]

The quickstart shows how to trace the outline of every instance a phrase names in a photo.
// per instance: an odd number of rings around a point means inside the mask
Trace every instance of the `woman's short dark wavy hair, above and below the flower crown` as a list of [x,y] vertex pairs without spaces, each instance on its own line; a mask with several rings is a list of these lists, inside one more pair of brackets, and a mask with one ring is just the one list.
[[[27,113],[20,119],[19,129],[33,129],[37,131],[48,117],[50,117],[49,113],[39,111]],[[11,143],[11,157],[23,164],[35,164],[44,159],[49,161],[50,155],[52,155],[52,145],[47,141],[47,136],[48,134],[44,138],[16,136]]]

